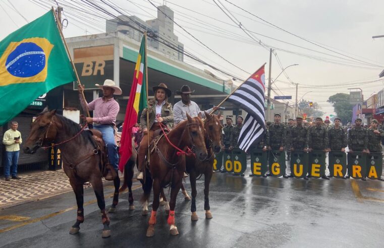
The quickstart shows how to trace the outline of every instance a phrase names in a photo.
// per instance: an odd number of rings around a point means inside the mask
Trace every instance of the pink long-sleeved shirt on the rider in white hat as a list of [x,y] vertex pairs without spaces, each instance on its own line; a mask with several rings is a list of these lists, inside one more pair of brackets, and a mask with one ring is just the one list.
[[99,97],[90,103],[86,103],[82,97],[80,97],[80,101],[82,104],[88,105],[89,111],[94,110],[93,122],[100,124],[115,124],[120,106],[114,98],[109,98],[104,102],[102,97]]

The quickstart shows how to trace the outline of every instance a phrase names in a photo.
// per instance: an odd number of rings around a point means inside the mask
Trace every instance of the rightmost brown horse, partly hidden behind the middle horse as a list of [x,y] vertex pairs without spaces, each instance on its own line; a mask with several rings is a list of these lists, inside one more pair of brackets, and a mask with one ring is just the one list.
[[191,220],[198,220],[196,214],[196,179],[199,175],[204,174],[204,210],[205,218],[211,219],[212,214],[209,207],[209,183],[212,178],[212,165],[214,160],[214,153],[220,152],[222,148],[221,137],[223,126],[220,122],[220,115],[209,114],[204,111],[206,119],[204,121],[205,129],[205,145],[208,152],[208,156],[203,161],[194,157],[186,158],[186,169],[189,173],[189,181],[191,182],[192,190],[192,204],[191,204]]

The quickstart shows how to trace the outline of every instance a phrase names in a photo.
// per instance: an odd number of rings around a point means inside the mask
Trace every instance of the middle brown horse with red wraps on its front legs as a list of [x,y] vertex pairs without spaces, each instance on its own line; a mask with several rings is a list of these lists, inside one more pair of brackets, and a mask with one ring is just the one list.
[[168,142],[167,137],[162,137],[158,141],[154,148],[155,152],[150,155],[149,170],[146,169],[145,171],[143,201],[148,201],[153,182],[153,204],[151,217],[148,221],[147,237],[154,235],[160,189],[167,187],[167,185],[171,187],[170,211],[168,216],[170,233],[172,235],[179,234],[175,225],[175,206],[177,194],[180,191],[184,177],[185,155],[178,156],[177,149],[170,143],[183,151],[187,150],[188,147],[192,147],[192,151],[200,160],[204,160],[207,157],[204,142],[204,127],[200,117],[192,118],[187,114],[187,120],[184,120],[172,129],[167,136],[170,142]]

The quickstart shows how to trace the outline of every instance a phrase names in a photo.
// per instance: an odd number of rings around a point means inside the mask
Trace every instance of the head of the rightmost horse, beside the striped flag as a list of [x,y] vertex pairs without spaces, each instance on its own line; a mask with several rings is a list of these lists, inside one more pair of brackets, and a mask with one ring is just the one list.
[[212,149],[215,153],[219,153],[222,149],[222,130],[223,125],[220,122],[221,113],[218,115],[209,114],[207,111],[205,113],[205,123],[204,128],[206,131],[206,137],[208,143],[207,146],[212,146]]

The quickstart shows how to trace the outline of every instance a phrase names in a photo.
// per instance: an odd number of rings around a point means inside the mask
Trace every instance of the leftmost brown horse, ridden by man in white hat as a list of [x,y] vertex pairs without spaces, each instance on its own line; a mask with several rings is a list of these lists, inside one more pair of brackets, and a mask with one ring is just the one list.
[[[99,131],[93,130],[101,137]],[[58,144],[62,151],[63,169],[69,177],[77,202],[77,219],[71,227],[70,234],[78,233],[80,224],[84,222],[83,209],[83,184],[90,182],[97,198],[97,205],[101,211],[101,219],[104,225],[102,237],[111,236],[109,218],[105,211],[103,176],[100,170],[100,147],[95,142],[90,131],[84,131],[74,121],[56,114],[56,110],[48,111],[45,108],[32,123],[31,132],[24,144],[25,153],[35,153],[39,147],[49,147],[51,143]],[[112,211],[119,201],[120,178],[114,179],[115,194]]]

